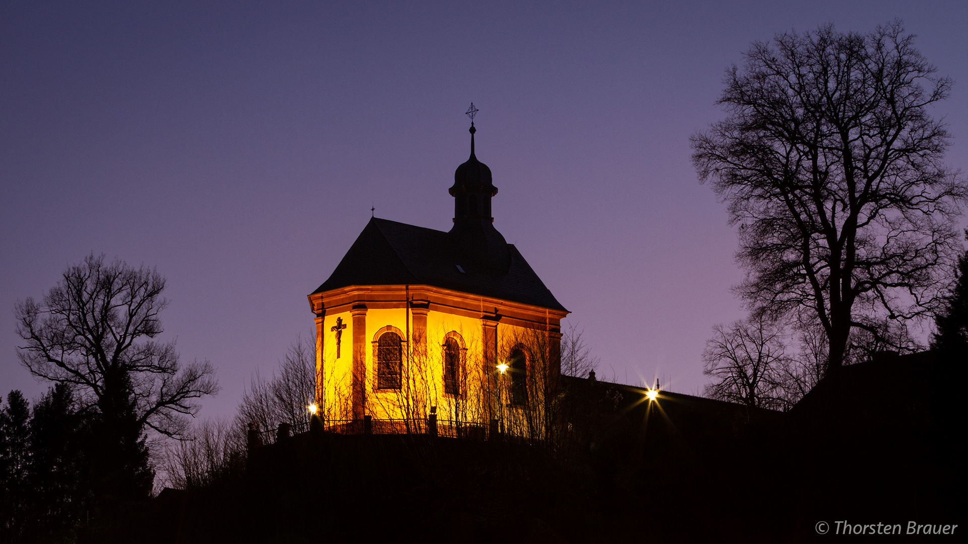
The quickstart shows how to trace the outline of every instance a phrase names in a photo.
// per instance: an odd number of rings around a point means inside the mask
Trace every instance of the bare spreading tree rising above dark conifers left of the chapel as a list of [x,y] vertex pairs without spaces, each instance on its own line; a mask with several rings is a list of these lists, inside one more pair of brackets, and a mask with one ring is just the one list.
[[150,428],[180,436],[197,399],[219,386],[211,363],[182,367],[174,341],[154,340],[163,331],[164,289],[153,268],[85,257],[42,302],[17,302],[20,362],[38,378],[71,385],[81,407],[108,425],[124,421],[136,435]]

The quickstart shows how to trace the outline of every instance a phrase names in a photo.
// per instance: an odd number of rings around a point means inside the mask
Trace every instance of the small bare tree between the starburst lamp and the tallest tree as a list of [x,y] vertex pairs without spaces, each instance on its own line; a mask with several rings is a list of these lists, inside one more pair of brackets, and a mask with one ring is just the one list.
[[728,328],[716,325],[712,331],[703,352],[703,374],[712,378],[706,396],[748,407],[783,408],[789,365],[783,328],[761,316]]

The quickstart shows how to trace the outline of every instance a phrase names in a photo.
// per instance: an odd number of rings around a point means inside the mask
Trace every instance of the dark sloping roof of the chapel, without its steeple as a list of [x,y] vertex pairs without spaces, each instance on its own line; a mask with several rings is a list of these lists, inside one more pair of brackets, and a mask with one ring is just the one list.
[[[506,273],[479,266],[447,232],[371,219],[314,292],[348,286],[429,285],[567,312],[513,244]],[[464,269],[461,273],[457,269]]]

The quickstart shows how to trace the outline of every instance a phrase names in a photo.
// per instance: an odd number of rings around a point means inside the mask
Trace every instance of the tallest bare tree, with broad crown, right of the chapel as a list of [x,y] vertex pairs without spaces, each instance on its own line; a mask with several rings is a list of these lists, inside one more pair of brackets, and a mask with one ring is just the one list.
[[779,34],[744,56],[693,163],[739,226],[741,296],[754,313],[817,320],[835,372],[852,330],[891,346],[885,323],[929,316],[950,281],[968,189],[927,108],[952,81],[899,21]]

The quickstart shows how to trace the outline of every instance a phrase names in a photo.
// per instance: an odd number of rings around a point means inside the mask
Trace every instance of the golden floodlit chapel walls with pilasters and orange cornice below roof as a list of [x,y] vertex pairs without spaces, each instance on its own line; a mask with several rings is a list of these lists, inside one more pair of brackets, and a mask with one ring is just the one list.
[[[317,315],[317,404],[326,420],[419,422],[436,407],[441,422],[483,423],[509,408],[509,381],[497,365],[512,348],[528,352],[535,390],[560,372],[565,312],[427,286],[343,287],[310,295],[310,303]],[[387,330],[403,341],[403,372],[399,388],[380,389],[377,343]],[[457,395],[444,392],[448,337],[462,348]]]

